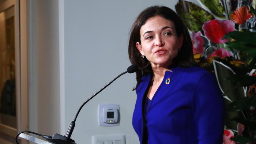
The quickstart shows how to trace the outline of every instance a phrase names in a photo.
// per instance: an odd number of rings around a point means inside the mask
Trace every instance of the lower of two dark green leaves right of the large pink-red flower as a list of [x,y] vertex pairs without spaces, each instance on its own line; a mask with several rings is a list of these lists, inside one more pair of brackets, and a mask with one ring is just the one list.
[[256,45],[247,45],[238,41],[226,42],[233,49],[248,53],[249,56],[256,56]]

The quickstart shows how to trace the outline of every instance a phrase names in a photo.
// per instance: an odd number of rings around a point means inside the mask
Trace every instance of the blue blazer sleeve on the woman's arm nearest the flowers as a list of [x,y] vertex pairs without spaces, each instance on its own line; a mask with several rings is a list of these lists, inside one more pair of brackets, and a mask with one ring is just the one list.
[[211,73],[199,77],[192,101],[199,144],[222,144],[225,105],[217,80]]

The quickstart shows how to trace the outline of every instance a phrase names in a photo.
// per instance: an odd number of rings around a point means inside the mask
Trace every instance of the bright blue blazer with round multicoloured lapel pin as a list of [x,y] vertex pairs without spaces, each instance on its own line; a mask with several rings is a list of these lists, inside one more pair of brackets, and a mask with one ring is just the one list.
[[132,125],[140,143],[147,137],[148,144],[222,144],[224,102],[214,75],[200,67],[170,70],[149,103],[146,118],[143,97],[152,76],[142,77],[136,89]]

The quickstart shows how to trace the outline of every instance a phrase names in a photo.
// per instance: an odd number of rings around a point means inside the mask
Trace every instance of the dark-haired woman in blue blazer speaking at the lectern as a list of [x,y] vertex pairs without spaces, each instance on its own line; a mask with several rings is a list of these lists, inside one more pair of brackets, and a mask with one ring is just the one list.
[[131,29],[137,64],[133,128],[141,144],[222,144],[224,105],[215,77],[193,60],[187,28],[167,7],[142,11]]

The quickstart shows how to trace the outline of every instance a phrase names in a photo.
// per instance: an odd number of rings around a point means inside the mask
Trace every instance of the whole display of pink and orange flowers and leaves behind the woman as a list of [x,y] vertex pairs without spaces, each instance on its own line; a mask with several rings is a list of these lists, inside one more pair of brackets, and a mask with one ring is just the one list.
[[255,0],[179,0],[195,61],[214,73],[226,104],[223,144],[256,144]]

